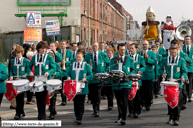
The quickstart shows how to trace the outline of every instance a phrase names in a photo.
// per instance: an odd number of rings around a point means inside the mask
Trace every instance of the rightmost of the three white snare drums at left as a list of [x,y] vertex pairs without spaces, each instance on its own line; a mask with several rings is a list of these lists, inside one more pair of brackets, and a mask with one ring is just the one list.
[[59,90],[62,86],[62,81],[58,79],[51,79],[46,82],[47,84],[47,90],[53,91],[53,90]]

